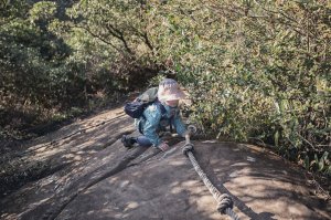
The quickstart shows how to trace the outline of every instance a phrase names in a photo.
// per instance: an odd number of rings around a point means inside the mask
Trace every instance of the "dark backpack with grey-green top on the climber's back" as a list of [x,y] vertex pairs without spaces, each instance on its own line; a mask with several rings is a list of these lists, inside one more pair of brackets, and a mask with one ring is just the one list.
[[151,87],[139,95],[135,101],[126,103],[124,111],[132,118],[140,118],[143,117],[143,111],[153,103],[160,107],[161,114],[164,115],[167,111],[158,99],[158,87]]

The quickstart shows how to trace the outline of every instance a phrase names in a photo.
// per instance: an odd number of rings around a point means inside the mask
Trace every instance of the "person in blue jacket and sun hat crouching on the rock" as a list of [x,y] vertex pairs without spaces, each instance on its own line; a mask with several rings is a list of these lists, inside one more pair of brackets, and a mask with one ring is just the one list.
[[157,99],[145,108],[141,117],[135,119],[135,126],[141,136],[128,137],[124,135],[121,138],[124,146],[131,148],[137,143],[139,146],[153,146],[162,151],[168,150],[170,148],[168,143],[160,138],[162,130],[170,127],[172,132],[173,127],[182,137],[188,134],[179,108],[179,101],[184,97],[185,94],[177,81],[164,78],[159,84]]

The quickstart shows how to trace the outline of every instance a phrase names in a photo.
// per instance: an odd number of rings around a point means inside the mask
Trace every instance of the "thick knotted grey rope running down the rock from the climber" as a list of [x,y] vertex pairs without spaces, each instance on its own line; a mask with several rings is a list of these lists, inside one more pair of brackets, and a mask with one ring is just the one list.
[[213,184],[207,178],[206,174],[201,169],[200,165],[197,164],[194,155],[193,155],[193,144],[190,142],[190,136],[185,136],[186,144],[183,148],[183,154],[189,157],[191,160],[191,164],[193,165],[195,171],[200,176],[200,178],[203,180],[203,184],[207,187],[210,192],[213,195],[214,199],[217,201],[217,211],[222,214],[229,216],[233,220],[239,220],[237,214],[232,210],[233,209],[233,201],[232,198],[227,193],[221,195],[218,189],[216,189]]

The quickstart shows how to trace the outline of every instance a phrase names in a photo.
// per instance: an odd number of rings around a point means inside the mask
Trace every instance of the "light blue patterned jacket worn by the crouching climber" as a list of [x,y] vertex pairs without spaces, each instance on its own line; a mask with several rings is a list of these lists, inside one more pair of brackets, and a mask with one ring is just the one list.
[[164,115],[162,115],[160,106],[153,103],[143,111],[143,117],[135,121],[137,129],[139,130],[139,126],[141,126],[142,134],[150,139],[154,147],[161,144],[158,133],[169,126],[169,118],[172,115],[171,123],[175,132],[182,137],[186,133],[186,128],[180,116],[180,109],[166,104],[163,106],[166,108]]

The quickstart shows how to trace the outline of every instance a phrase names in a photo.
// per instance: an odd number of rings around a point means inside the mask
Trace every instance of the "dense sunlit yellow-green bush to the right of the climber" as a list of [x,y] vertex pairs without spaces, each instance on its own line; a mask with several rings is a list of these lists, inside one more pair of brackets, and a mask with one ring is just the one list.
[[[171,3],[170,3],[171,2]],[[151,9],[159,59],[191,92],[206,132],[257,142],[331,174],[325,1],[169,1]]]

